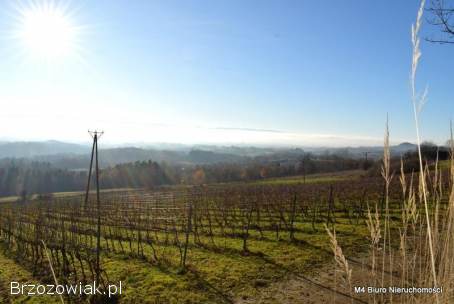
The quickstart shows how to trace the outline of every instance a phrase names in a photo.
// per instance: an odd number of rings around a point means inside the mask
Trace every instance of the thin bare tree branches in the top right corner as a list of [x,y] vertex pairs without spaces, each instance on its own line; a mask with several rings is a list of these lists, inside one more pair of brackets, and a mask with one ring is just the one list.
[[442,33],[439,37],[427,37],[429,42],[454,44],[454,2],[432,0],[427,8],[430,16],[427,21],[436,26]]

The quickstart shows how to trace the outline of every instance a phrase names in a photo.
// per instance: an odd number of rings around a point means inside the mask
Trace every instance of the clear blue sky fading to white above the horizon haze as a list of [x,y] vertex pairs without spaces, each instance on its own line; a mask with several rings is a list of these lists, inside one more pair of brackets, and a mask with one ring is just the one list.
[[[86,142],[99,129],[110,144],[379,145],[389,115],[391,141],[414,142],[418,7],[0,0],[0,139]],[[44,21],[33,17],[45,8]],[[61,26],[46,23],[55,15]],[[437,29],[424,22],[421,34]],[[422,137],[443,143],[454,46],[421,50]]]

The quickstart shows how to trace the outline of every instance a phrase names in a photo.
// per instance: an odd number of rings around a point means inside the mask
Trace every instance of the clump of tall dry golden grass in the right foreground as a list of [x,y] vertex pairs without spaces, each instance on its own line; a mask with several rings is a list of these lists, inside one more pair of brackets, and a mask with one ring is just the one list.
[[[422,94],[416,90],[416,72],[421,58],[419,32],[422,24],[425,0],[421,1],[416,23],[412,25],[412,66],[410,73],[411,100],[413,105],[416,141],[419,157],[419,172],[410,176],[404,173],[401,161],[399,181],[402,190],[400,219],[391,222],[389,209],[389,187],[394,173],[390,171],[389,128],[385,129],[384,155],[381,175],[384,180],[384,208],[373,212],[369,206],[365,220],[370,233],[370,259],[372,276],[365,285],[377,286],[377,274],[381,270],[381,286],[401,287],[443,287],[443,293],[429,295],[394,296],[382,294],[380,302],[392,303],[452,303],[454,297],[454,141],[451,124],[451,158],[448,171],[449,188],[446,188],[446,175],[439,166],[429,169],[421,153],[420,123],[421,110],[426,103],[427,89]],[[446,170],[445,170],[446,172]],[[391,229],[392,227],[392,229]],[[348,273],[351,282],[351,269],[345,264],[335,232],[327,232],[338,267]],[[393,247],[391,240],[398,236],[399,244]],[[380,244],[382,247],[380,248]],[[376,259],[381,252],[380,261]],[[381,265],[379,265],[381,263]],[[381,266],[381,267],[380,267]],[[379,270],[380,268],[380,270]],[[430,274],[430,275],[429,275]],[[386,277],[386,278],[385,278]],[[394,279],[394,282],[393,282]],[[398,283],[396,283],[398,282]],[[386,284],[386,285],[385,285]],[[380,287],[380,286],[378,286]],[[376,296],[373,296],[374,302]]]

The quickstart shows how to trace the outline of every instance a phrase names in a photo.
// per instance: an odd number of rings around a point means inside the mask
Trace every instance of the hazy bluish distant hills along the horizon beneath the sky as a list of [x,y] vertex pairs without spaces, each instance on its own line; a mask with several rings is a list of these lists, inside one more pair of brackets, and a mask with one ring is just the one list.
[[[99,150],[100,166],[112,167],[117,164],[136,161],[153,160],[179,165],[198,165],[215,163],[243,163],[248,161],[263,162],[295,162],[304,154],[338,155],[346,158],[360,159],[367,153],[370,159],[379,159],[383,155],[383,147],[344,147],[344,148],[267,148],[196,145],[184,149],[178,145],[157,147],[116,147]],[[416,146],[401,143],[391,147],[391,154],[401,155],[414,151]],[[25,158],[32,161],[50,163],[55,168],[84,170],[90,162],[90,145],[78,145],[59,141],[43,142],[0,142],[0,159]]]

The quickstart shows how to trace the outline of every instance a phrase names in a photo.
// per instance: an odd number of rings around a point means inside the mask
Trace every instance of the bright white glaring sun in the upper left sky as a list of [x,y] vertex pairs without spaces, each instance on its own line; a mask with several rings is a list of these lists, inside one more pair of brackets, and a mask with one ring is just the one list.
[[19,15],[16,37],[29,55],[55,60],[76,51],[78,28],[66,6],[54,1],[32,2]]

